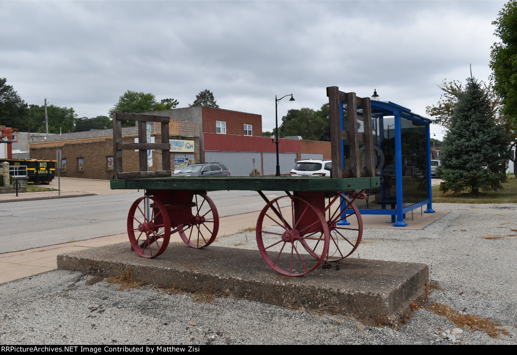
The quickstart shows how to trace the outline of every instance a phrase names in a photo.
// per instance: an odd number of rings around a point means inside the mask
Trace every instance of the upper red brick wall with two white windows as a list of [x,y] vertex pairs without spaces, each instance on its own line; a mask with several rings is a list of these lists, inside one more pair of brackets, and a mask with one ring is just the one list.
[[244,135],[244,124],[252,126],[252,135],[262,136],[262,116],[203,107],[203,132],[216,133],[216,121],[226,122],[226,134]]

